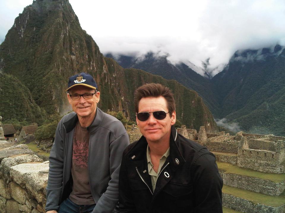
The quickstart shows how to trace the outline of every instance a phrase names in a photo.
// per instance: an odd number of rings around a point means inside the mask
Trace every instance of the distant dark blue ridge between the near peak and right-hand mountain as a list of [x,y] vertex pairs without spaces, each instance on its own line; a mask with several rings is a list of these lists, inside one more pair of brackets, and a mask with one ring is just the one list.
[[171,64],[167,60],[167,55],[157,56],[153,52],[145,54],[143,59],[125,55],[114,57],[111,53],[106,54],[106,57],[115,59],[124,68],[141,69],[169,80],[177,80],[187,88],[197,91],[213,115],[219,115],[220,107],[216,101],[210,79],[199,75],[186,64]]

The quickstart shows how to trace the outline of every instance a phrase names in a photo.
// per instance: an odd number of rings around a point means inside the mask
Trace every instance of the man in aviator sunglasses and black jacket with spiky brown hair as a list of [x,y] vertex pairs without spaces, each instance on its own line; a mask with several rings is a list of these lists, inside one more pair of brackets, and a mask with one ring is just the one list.
[[120,212],[221,213],[223,182],[215,156],[177,133],[169,88],[145,84],[134,102],[143,136],[123,153]]

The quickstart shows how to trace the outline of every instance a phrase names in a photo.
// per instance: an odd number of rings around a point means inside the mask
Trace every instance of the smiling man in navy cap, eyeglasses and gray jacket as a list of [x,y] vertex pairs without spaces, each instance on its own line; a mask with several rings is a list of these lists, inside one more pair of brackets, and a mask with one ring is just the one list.
[[45,210],[116,212],[121,156],[129,137],[119,120],[97,107],[100,92],[91,75],[71,76],[66,91],[74,112],[56,129]]

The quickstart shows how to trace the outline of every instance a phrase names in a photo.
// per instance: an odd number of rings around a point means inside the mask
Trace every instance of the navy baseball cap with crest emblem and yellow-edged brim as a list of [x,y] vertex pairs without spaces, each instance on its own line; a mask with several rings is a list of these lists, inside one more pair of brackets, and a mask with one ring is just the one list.
[[77,75],[71,76],[68,80],[68,88],[66,89],[66,91],[78,85],[83,85],[92,89],[97,89],[97,84],[94,78],[85,72],[80,72]]

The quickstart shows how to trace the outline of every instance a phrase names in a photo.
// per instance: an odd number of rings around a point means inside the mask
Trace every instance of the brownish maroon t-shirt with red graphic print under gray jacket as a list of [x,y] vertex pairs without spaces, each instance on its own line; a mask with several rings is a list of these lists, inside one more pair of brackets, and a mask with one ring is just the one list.
[[73,137],[71,175],[72,192],[69,199],[78,205],[95,204],[88,173],[89,132],[77,122]]

